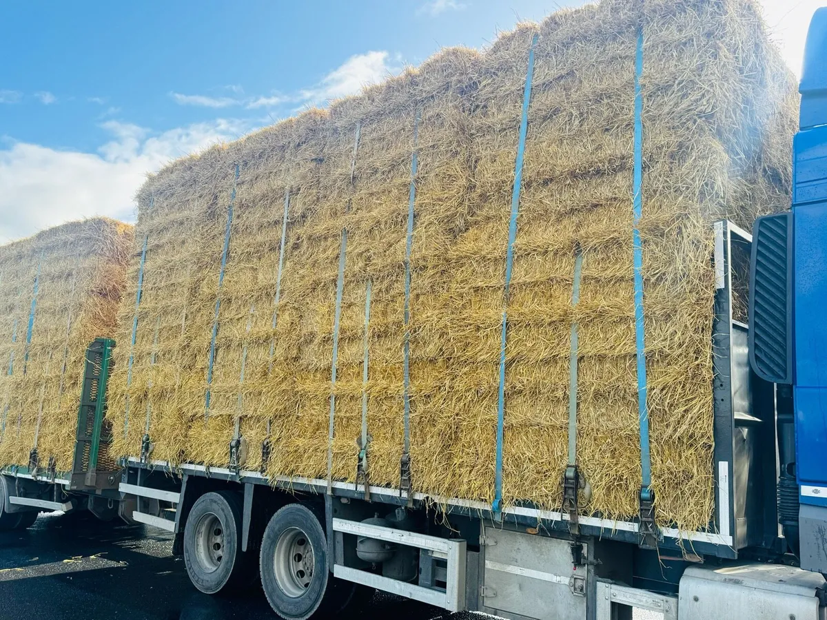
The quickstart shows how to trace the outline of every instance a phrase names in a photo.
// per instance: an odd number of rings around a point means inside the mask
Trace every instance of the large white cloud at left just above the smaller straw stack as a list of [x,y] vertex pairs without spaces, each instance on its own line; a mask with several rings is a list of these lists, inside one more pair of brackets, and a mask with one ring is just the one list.
[[0,242],[12,241],[80,217],[105,215],[131,221],[133,198],[146,173],[182,155],[251,129],[217,120],[153,133],[110,121],[112,140],[98,153],[55,150],[12,142],[0,150]]

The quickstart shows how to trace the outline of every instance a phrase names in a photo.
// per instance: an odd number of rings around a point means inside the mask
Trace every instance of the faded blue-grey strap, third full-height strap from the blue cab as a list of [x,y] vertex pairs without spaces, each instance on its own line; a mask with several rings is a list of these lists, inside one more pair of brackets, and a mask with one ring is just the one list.
[[402,346],[403,365],[403,393],[404,407],[404,446],[400,465],[399,491],[404,492],[410,500],[410,448],[411,448],[411,396],[410,396],[410,356],[411,356],[411,251],[414,246],[414,204],[416,203],[416,175],[418,170],[417,147],[419,141],[419,122],[422,120],[422,108],[417,107],[414,115],[414,149],[411,151],[411,184],[408,192],[408,235],[405,237],[405,334]]

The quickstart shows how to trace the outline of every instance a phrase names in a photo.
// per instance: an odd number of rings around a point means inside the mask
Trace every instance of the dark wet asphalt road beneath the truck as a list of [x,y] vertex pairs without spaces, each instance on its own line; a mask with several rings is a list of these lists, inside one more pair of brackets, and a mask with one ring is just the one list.
[[[172,537],[152,527],[41,514],[28,530],[0,532],[0,620],[276,618],[261,592],[232,599],[199,593],[171,547]],[[377,594],[362,617],[473,616]]]

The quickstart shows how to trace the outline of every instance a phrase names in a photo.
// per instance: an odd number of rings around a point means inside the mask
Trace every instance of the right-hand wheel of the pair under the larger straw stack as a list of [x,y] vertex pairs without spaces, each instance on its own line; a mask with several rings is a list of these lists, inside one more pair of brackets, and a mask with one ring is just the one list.
[[336,618],[356,584],[327,570],[327,538],[312,510],[290,503],[270,518],[261,540],[261,586],[270,607],[285,620]]

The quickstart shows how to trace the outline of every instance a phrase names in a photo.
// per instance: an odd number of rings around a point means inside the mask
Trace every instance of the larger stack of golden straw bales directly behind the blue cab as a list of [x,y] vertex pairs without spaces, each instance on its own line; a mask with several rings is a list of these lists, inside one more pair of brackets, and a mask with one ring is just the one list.
[[[154,458],[226,466],[238,420],[250,446],[246,467],[261,465],[261,442],[269,439],[268,475],[323,478],[335,394],[332,477],[354,481],[365,393],[370,482],[399,484],[415,150],[414,489],[494,496],[505,303],[506,502],[548,508],[562,502],[569,331],[576,321],[578,463],[593,489],[585,510],[636,514],[638,28],[653,486],[659,520],[704,527],[713,497],[711,222],[729,217],[748,227],[754,217],[786,207],[790,191],[795,89],[750,0],[605,0],[557,12],[500,36],[483,53],[443,50],[327,111],[305,112],[151,177],[139,195],[137,239],[146,238],[147,251],[134,363],[127,380],[129,348],[119,346],[118,394],[109,408],[124,429],[119,450],[135,454],[148,429]],[[535,35],[506,301],[514,160]],[[574,309],[578,248],[584,263]],[[131,298],[138,262],[136,256],[128,276]],[[119,341],[130,340],[133,317],[134,307],[124,304]]]

